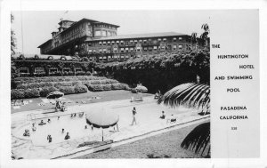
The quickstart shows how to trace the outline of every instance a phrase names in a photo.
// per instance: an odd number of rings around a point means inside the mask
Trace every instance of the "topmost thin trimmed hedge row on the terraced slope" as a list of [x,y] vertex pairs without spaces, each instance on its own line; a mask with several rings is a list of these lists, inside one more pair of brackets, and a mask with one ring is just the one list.
[[101,76],[44,76],[44,77],[16,77],[15,84],[41,83],[41,82],[68,82],[68,81],[88,81],[103,80]]

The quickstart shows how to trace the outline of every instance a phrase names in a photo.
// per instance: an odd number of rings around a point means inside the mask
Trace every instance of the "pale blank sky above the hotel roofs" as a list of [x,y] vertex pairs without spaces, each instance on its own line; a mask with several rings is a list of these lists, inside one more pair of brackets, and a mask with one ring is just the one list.
[[13,11],[12,29],[17,39],[17,52],[38,54],[40,44],[57,31],[61,18],[99,20],[119,25],[117,35],[177,32],[191,35],[203,32],[209,23],[208,11]]

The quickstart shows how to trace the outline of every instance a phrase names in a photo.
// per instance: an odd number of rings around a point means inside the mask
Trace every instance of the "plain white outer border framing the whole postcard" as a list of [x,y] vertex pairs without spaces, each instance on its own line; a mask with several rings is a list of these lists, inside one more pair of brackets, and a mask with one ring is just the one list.
[[[103,5],[105,4],[105,5]],[[66,11],[66,10],[216,10],[216,9],[259,9],[260,10],[260,77],[261,77],[261,158],[259,159],[84,159],[84,160],[20,160],[10,158],[11,115],[10,111],[10,11]],[[263,167],[267,165],[267,2],[264,0],[4,0],[1,2],[1,150],[2,167]],[[265,48],[264,48],[265,47]],[[264,87],[265,86],[265,87]],[[249,144],[252,145],[252,144]],[[265,161],[265,163],[264,163]]]

